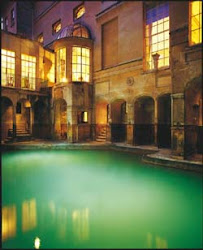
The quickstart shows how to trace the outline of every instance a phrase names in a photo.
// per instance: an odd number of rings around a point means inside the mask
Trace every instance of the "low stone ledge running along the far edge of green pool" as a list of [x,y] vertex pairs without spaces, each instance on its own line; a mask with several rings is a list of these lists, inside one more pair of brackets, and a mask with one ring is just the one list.
[[34,149],[50,149],[50,150],[75,150],[75,149],[84,149],[84,150],[115,150],[121,152],[134,153],[136,155],[141,155],[142,162],[164,166],[168,168],[176,168],[182,170],[189,170],[198,173],[203,172],[203,166],[201,163],[173,159],[171,157],[160,156],[156,154],[158,150],[156,149],[143,149],[139,147],[131,147],[128,145],[116,145],[116,144],[1,144],[1,152],[15,151],[15,150],[34,150]]

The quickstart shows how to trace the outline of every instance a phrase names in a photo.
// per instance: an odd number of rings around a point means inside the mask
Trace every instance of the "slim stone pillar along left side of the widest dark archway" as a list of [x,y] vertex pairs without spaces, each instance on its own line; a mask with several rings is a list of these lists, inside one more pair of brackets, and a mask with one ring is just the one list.
[[133,145],[133,129],[134,129],[134,105],[132,103],[126,103],[126,142],[127,144]]

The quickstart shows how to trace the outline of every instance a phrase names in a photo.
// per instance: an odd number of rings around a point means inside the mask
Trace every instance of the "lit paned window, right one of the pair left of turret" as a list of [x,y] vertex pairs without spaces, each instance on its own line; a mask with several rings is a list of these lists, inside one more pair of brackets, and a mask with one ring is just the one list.
[[21,87],[35,89],[36,85],[36,57],[21,55]]

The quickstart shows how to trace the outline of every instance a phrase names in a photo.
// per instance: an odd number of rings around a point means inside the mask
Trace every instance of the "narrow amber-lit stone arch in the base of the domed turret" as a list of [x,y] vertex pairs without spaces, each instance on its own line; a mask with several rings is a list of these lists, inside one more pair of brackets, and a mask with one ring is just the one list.
[[67,139],[67,102],[60,98],[54,100],[54,134],[57,139]]

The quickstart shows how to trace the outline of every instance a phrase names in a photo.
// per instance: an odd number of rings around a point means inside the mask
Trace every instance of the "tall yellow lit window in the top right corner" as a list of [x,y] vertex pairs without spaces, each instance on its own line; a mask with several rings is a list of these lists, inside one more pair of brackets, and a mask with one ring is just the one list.
[[190,45],[202,43],[202,1],[190,2]]

